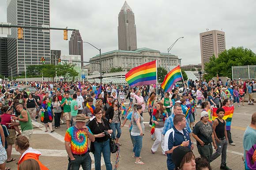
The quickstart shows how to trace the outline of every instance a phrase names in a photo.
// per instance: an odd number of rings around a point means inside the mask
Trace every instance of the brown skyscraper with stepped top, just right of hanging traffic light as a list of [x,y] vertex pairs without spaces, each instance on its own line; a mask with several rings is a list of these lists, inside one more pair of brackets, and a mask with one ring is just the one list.
[[[80,42],[78,42],[80,41]],[[72,32],[69,44],[69,54],[70,55],[81,55],[81,61],[83,61],[83,40],[79,33],[79,30]],[[83,66],[83,63],[82,63]]]

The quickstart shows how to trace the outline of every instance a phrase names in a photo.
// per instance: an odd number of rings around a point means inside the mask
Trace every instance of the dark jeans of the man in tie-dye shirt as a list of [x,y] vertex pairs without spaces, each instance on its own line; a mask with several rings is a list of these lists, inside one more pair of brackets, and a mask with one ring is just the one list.
[[85,156],[74,155],[75,160],[70,160],[71,170],[79,170],[82,165],[83,170],[91,170],[91,158],[89,152]]

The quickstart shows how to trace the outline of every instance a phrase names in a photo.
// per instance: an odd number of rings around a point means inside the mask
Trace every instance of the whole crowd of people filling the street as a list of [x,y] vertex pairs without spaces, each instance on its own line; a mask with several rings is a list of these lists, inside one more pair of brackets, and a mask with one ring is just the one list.
[[[23,85],[15,81],[0,84],[0,169],[3,170],[9,170],[5,168],[6,163],[15,161],[11,158],[12,145],[21,153],[18,170],[24,164],[33,164],[41,170],[48,169],[39,161],[41,153],[29,148],[33,134],[32,121],[41,121],[45,125],[45,133],[55,133],[54,129],[66,126],[64,141],[68,153],[68,170],[79,170],[80,166],[84,170],[91,169],[89,152],[94,153],[95,169],[101,169],[103,155],[106,169],[112,170],[111,141],[114,139],[116,145],[122,145],[122,127],[129,120],[132,157],[136,164],[143,165],[145,163],[140,156],[145,129],[143,111],[148,111],[150,116],[151,139],[154,140],[151,153],[156,154],[161,145],[162,155],[167,156],[168,170],[211,170],[210,163],[220,155],[220,169],[231,170],[226,165],[226,150],[228,144],[236,144],[223,119],[225,107],[245,105],[245,93],[248,93],[248,105],[254,105],[253,94],[256,93],[256,81],[243,82],[241,79],[227,80],[226,83],[221,80],[216,83],[214,80],[188,80],[184,82],[181,95],[178,86],[165,93],[160,85],[155,84],[129,88],[112,83],[25,83],[26,86],[34,87],[34,92],[30,92],[29,88],[23,90]],[[123,115],[126,100],[132,112]],[[215,120],[212,119],[212,108],[218,108]],[[197,113],[200,120],[196,123]],[[255,124],[256,114],[253,114],[251,129],[246,133],[256,136]],[[244,141],[246,153],[251,144],[256,144],[256,139],[249,143],[247,141]],[[196,158],[192,152],[194,145],[200,158]]]

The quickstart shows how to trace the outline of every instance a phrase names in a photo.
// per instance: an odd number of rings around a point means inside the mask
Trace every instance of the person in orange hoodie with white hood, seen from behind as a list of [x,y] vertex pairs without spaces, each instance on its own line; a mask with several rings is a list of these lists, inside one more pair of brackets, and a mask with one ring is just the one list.
[[44,166],[40,161],[39,161],[39,156],[41,155],[41,152],[29,148],[29,141],[25,136],[18,136],[15,139],[15,150],[21,154],[18,162],[18,170],[19,170],[19,165],[27,159],[35,159],[41,170],[49,170],[46,166]]

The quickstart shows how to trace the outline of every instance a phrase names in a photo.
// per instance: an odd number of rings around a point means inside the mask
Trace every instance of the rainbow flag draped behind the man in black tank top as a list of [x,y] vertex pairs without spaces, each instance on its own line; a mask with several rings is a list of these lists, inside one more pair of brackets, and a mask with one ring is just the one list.
[[[217,116],[217,111],[218,108],[212,108],[212,121],[214,119],[216,119]],[[230,130],[231,127],[231,121],[232,121],[232,116],[233,116],[233,112],[234,112],[234,106],[231,107],[223,107],[223,109],[225,110],[225,115],[222,119],[226,120],[226,130]]]

